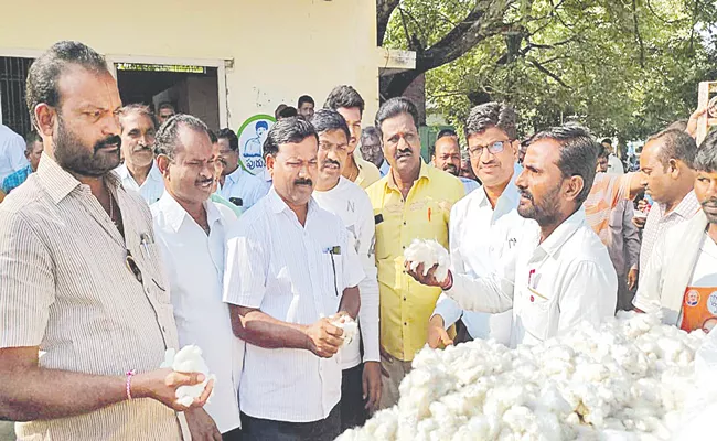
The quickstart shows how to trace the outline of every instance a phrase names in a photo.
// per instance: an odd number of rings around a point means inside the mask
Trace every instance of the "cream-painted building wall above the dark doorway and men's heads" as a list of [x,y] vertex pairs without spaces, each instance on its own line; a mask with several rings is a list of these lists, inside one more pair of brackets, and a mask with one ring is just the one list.
[[309,94],[320,107],[351,84],[378,108],[375,0],[25,0],[0,26],[7,50],[41,52],[79,40],[106,55],[233,60],[226,69],[229,126],[274,115]]

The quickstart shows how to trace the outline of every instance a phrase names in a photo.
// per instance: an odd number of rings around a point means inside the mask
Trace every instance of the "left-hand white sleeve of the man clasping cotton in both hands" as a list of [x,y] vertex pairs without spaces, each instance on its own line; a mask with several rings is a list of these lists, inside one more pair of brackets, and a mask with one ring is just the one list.
[[225,303],[258,309],[264,301],[268,261],[265,240],[242,220],[227,235],[224,270]]

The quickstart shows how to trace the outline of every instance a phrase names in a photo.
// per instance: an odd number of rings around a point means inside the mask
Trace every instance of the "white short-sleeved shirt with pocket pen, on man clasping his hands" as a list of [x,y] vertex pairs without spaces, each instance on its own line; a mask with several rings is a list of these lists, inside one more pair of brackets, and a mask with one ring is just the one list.
[[[313,198],[301,226],[272,187],[229,232],[224,301],[303,325],[336,313],[343,290],[364,279],[346,236],[341,218]],[[334,247],[340,255],[329,252]],[[245,354],[239,402],[249,417],[318,421],[341,398],[339,355],[249,343]]]

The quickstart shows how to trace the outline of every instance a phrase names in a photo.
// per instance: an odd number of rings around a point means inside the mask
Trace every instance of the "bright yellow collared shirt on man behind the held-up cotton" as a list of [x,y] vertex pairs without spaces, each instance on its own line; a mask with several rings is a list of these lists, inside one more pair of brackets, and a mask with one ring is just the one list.
[[376,216],[376,263],[381,291],[381,344],[408,362],[426,344],[428,320],[440,288],[425,287],[404,270],[404,249],[416,239],[435,239],[448,249],[451,207],[464,195],[454,176],[427,166],[404,201],[389,173],[366,190]]

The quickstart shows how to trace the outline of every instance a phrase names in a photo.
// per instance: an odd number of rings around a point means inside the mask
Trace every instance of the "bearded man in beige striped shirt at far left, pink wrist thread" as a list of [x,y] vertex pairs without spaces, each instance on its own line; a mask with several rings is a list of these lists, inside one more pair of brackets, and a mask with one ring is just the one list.
[[158,368],[179,342],[149,207],[113,173],[117,83],[64,41],[26,101],[44,153],[0,206],[0,419],[19,440],[181,440],[176,388],[204,376]]

